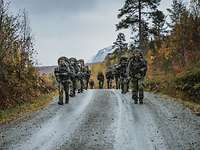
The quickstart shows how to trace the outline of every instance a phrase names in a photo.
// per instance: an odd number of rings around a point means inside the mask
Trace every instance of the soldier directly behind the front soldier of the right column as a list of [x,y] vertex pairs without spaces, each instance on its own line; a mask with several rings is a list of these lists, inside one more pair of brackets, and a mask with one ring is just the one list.
[[120,71],[120,87],[122,89],[122,94],[126,94],[128,92],[128,87],[129,87],[127,66],[128,66],[128,58],[121,57],[119,62],[119,71]]

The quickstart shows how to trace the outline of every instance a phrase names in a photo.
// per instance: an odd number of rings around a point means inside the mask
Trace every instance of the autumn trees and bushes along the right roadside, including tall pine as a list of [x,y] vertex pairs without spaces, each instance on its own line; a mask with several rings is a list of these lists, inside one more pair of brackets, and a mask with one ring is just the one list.
[[[147,2],[139,1],[140,5]],[[191,0],[186,6],[183,1],[173,0],[167,9],[168,16],[158,9],[146,12],[151,19],[141,13],[144,24],[140,27],[138,11],[127,11],[131,7],[134,10],[137,2],[126,0],[118,15],[119,19],[126,17],[121,19],[117,29],[135,27],[133,42],[109,54],[104,63],[106,66],[115,64],[121,56],[130,56],[135,48],[143,49],[148,61],[146,90],[181,98],[186,106],[200,112],[200,2]]]

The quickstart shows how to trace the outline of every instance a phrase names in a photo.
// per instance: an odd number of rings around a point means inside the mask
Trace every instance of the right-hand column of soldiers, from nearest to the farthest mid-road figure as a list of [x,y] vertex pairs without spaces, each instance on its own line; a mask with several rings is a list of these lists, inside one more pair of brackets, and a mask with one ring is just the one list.
[[121,57],[118,64],[109,66],[105,72],[99,72],[97,79],[99,88],[103,88],[104,80],[107,80],[107,88],[113,88],[112,82],[115,80],[115,88],[121,89],[122,94],[126,94],[129,88],[132,89],[132,99],[135,104],[143,104],[144,98],[144,77],[147,71],[147,62],[141,50],[134,50],[129,57]]

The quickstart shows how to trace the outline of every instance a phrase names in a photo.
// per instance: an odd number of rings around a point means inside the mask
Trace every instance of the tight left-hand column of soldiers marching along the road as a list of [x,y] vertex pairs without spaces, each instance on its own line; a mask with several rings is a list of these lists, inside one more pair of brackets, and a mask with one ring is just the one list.
[[69,103],[69,97],[88,89],[91,71],[83,59],[60,57],[54,74],[59,84],[59,105]]

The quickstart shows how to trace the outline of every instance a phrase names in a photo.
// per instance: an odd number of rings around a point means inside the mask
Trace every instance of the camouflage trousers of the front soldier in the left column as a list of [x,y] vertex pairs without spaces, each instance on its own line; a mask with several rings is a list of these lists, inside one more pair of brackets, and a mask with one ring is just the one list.
[[[65,99],[65,100],[64,100]],[[59,83],[59,105],[63,105],[65,103],[69,103],[69,82],[65,81]]]

